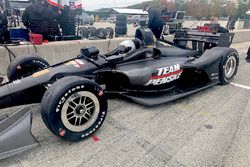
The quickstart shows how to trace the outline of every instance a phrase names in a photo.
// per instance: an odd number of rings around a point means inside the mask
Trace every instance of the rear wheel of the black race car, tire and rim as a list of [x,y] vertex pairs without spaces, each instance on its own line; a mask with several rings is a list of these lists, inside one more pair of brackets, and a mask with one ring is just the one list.
[[229,49],[226,54],[219,67],[221,85],[229,84],[237,74],[239,67],[238,52],[234,49]]

